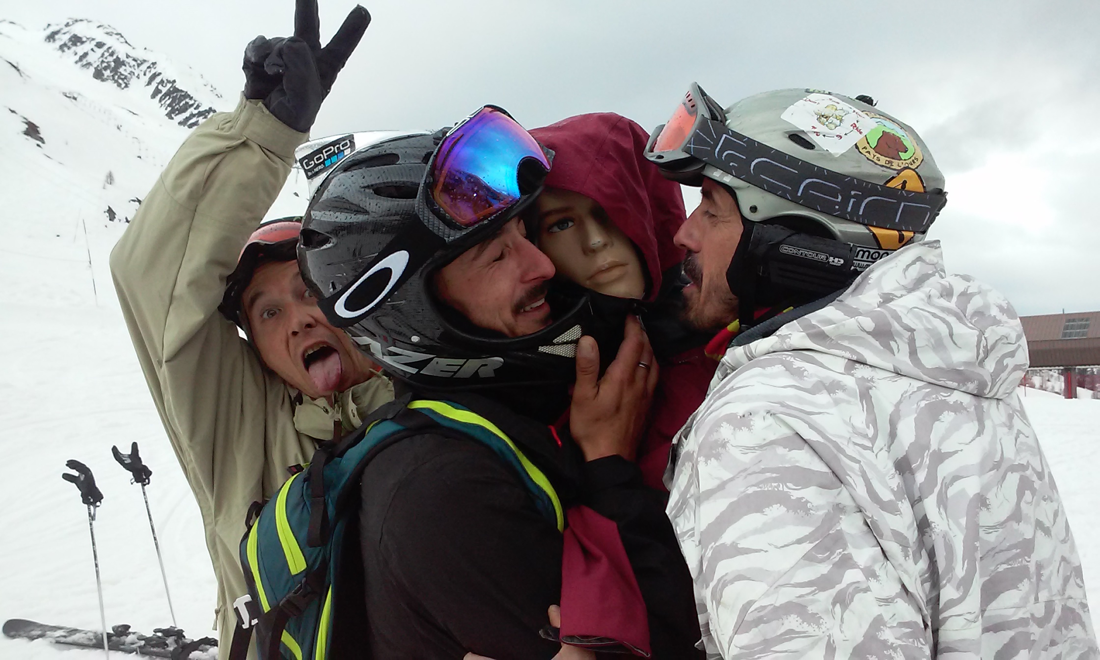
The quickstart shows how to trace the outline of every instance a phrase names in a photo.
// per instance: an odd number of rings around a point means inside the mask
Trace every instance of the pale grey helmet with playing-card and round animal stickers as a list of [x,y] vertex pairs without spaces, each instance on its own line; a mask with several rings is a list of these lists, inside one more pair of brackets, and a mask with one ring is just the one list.
[[[715,103],[705,98],[705,92],[698,96],[704,97],[700,99],[701,106],[712,114],[716,113]],[[894,200],[881,201],[875,197],[873,190],[865,190],[862,199],[842,199],[832,186],[804,176],[800,198],[788,185],[769,185],[772,177],[767,174],[758,178],[746,176],[748,168],[706,163],[702,164],[702,168],[683,169],[676,176],[676,167],[666,167],[662,163],[666,158],[657,157],[660,154],[647,148],[647,156],[661,165],[667,175],[682,183],[700,185],[698,176],[702,175],[728,186],[735,193],[746,220],[809,220],[822,235],[857,246],[854,266],[864,271],[902,245],[923,239],[935,213],[946,201],[944,175],[924,140],[909,124],[871,103],[873,100],[870,97],[854,99],[815,89],[779,89],[743,99],[714,119],[723,121],[737,134],[810,166],[856,182],[938,197],[938,206],[927,220],[910,226],[911,229],[899,229],[901,224],[891,226],[890,220],[900,218],[901,211],[895,213],[900,205]],[[656,133],[650,147],[658,140]],[[771,164],[758,160],[751,168],[755,172],[765,170]],[[776,163],[776,167],[781,168],[783,164]],[[881,204],[876,206],[869,198]],[[813,200],[812,206],[807,205],[810,200]],[[858,221],[838,215],[838,211],[854,208],[870,208],[875,212],[864,213]],[[880,213],[881,221],[876,220],[876,212]]]

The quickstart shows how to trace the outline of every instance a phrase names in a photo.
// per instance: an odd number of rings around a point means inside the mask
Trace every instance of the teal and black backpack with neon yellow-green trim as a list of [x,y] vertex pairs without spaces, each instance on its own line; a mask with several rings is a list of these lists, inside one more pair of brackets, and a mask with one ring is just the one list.
[[360,594],[349,594],[362,580],[355,576],[359,538],[348,534],[349,522],[358,520],[363,470],[404,438],[430,431],[485,444],[515,470],[538,510],[559,531],[564,528],[550,481],[496,425],[459,404],[410,398],[382,406],[339,443],[322,443],[272,499],[252,505],[240,550],[249,593],[233,603],[240,627],[230,660],[245,658],[253,630],[261,660],[327,660],[343,646],[363,656],[361,638],[334,645],[333,636],[336,628],[345,635],[364,628],[362,620],[333,625],[338,609],[362,602]]

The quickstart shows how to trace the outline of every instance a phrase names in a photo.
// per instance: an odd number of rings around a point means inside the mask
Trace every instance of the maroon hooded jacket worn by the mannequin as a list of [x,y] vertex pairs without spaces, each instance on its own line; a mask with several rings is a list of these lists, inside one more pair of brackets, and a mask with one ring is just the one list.
[[[649,276],[646,299],[654,300],[662,273],[683,261],[684,252],[673,243],[673,237],[685,212],[680,185],[661,176],[644,155],[647,132],[625,117],[601,112],[571,117],[531,134],[554,151],[546,186],[579,193],[604,208],[645,261]],[[703,403],[717,362],[697,346],[660,366],[650,424],[636,461],[645,484],[664,493],[662,476],[672,437]],[[651,622],[647,612],[656,608],[647,609],[646,602],[661,594],[647,593],[658,590],[647,582],[646,568],[637,560],[631,565],[615,522],[584,506],[570,509],[568,519],[562,556],[562,640],[648,656]],[[670,531],[669,525],[658,534]]]

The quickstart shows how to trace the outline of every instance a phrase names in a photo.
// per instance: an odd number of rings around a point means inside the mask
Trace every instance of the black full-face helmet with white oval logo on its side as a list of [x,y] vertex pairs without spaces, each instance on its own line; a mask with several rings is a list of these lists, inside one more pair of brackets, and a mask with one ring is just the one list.
[[[444,243],[417,212],[419,186],[441,134],[386,140],[331,169],[302,220],[298,264],[306,285],[326,309],[326,299],[359,278],[393,241],[413,235],[431,242],[436,253],[380,294],[383,301],[369,316],[339,324],[361,350],[392,376],[435,391],[572,381],[581,321],[588,311],[583,297],[548,295],[554,322],[521,338],[475,328],[435,299],[432,275],[470,245],[469,240]],[[479,228],[470,239],[491,237],[514,216]],[[332,322],[340,320],[326,314]]]

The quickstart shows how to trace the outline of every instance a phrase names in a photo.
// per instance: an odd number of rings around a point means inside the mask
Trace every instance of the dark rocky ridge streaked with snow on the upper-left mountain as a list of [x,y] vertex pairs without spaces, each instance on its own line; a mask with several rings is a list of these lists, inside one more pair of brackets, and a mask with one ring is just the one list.
[[69,19],[46,25],[44,38],[97,80],[119,89],[144,87],[165,117],[182,127],[197,127],[216,112],[213,102],[221,100],[200,76],[158,64],[152,52],[133,46],[110,25]]

